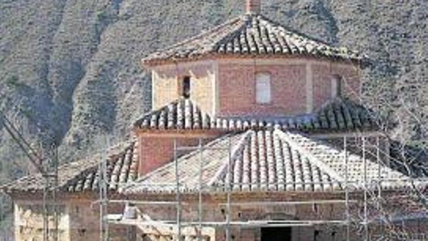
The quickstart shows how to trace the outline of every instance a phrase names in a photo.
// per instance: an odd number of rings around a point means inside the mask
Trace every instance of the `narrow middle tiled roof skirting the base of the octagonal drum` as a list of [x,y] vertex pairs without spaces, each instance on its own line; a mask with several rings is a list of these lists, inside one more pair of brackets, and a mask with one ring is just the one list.
[[146,113],[134,123],[142,130],[231,130],[266,129],[340,131],[374,129],[371,111],[350,100],[337,99],[315,114],[298,117],[219,117],[199,109],[189,99],[174,101],[159,110]]

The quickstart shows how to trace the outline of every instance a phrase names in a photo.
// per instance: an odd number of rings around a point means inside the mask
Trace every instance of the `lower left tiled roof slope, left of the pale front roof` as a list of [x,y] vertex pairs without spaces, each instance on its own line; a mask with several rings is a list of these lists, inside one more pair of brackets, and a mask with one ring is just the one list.
[[[107,187],[116,190],[118,184],[135,181],[138,177],[137,143],[127,144],[107,160]],[[116,148],[117,149],[117,148]],[[58,167],[59,190],[65,192],[83,192],[98,189],[100,176],[100,156],[71,162]],[[44,179],[40,173],[29,175],[2,186],[7,192],[42,191]]]

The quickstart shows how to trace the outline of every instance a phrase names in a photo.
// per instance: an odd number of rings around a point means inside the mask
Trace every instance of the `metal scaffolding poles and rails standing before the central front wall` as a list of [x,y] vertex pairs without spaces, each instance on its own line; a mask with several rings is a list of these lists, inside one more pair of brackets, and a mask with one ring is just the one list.
[[[232,226],[239,226],[239,227],[267,227],[267,226],[273,226],[273,227],[295,227],[295,226],[315,226],[315,225],[335,225],[335,226],[344,226],[346,228],[346,240],[349,241],[351,240],[351,229],[355,228],[353,227],[353,225],[358,226],[360,225],[362,227],[363,230],[363,235],[362,235],[362,239],[364,241],[369,241],[372,240],[375,235],[371,235],[370,233],[370,224],[374,224],[377,223],[381,226],[384,226],[386,224],[393,226],[393,223],[389,222],[387,219],[385,219],[384,217],[379,217],[380,215],[383,215],[383,213],[380,212],[380,210],[382,209],[382,182],[398,182],[398,183],[403,183],[403,182],[412,182],[412,181],[416,181],[416,180],[409,180],[409,179],[384,179],[382,178],[381,175],[381,168],[384,165],[383,161],[380,158],[381,154],[385,154],[383,153],[383,150],[381,150],[380,148],[378,148],[379,145],[379,137],[376,137],[376,143],[375,143],[375,157],[376,157],[376,163],[378,166],[378,171],[377,171],[377,180],[375,180],[375,185],[376,188],[372,188],[373,185],[373,180],[368,181],[367,179],[367,154],[369,153],[369,151],[367,150],[367,141],[366,141],[366,137],[364,136],[364,133],[356,133],[353,137],[354,139],[360,139],[361,141],[361,153],[362,153],[362,157],[363,157],[363,166],[364,166],[364,173],[363,173],[363,184],[362,184],[362,190],[360,191],[360,193],[362,192],[363,195],[363,199],[362,200],[358,200],[355,195],[351,195],[351,190],[354,189],[354,187],[356,185],[360,185],[361,183],[357,183],[355,181],[351,181],[349,180],[349,175],[348,175],[348,156],[349,156],[349,147],[351,146],[349,143],[349,138],[344,136],[343,137],[343,164],[345,166],[345,177],[342,183],[340,183],[340,185],[343,188],[343,198],[340,199],[335,199],[335,200],[326,200],[326,199],[320,199],[320,200],[308,200],[308,201],[284,201],[284,202],[236,202],[236,201],[232,201],[231,196],[232,196],[232,185],[236,185],[236,183],[232,183],[231,180],[231,176],[232,176],[232,144],[231,144],[231,137],[228,137],[228,148],[212,148],[218,151],[228,151],[228,160],[227,160],[227,175],[226,175],[226,183],[224,184],[223,188],[224,188],[224,195],[226,196],[226,203],[220,204],[225,206],[225,220],[223,222],[218,222],[218,221],[210,221],[210,220],[203,220],[202,217],[202,211],[203,211],[203,193],[206,194],[207,191],[204,189],[204,184],[202,183],[202,174],[203,174],[203,169],[204,169],[204,157],[203,157],[203,152],[205,150],[209,150],[210,147],[204,147],[202,145],[202,139],[199,139],[198,141],[198,145],[197,146],[178,146],[177,140],[174,141],[174,169],[175,169],[175,183],[166,183],[166,184],[159,184],[159,183],[154,183],[154,184],[144,184],[145,186],[169,186],[169,187],[175,187],[176,190],[176,200],[175,201],[139,201],[139,200],[108,200],[107,197],[107,190],[105,191],[101,191],[104,190],[105,187],[107,186],[107,180],[105,178],[101,178],[100,179],[100,186],[102,187],[100,189],[100,205],[103,205],[103,207],[100,206],[100,220],[105,223],[105,226],[108,226],[108,223],[111,224],[121,224],[121,225],[125,225],[125,226],[137,226],[137,227],[141,227],[144,225],[149,225],[149,226],[159,226],[159,227],[169,227],[169,230],[175,230],[176,232],[176,236],[175,236],[175,240],[184,240],[183,237],[183,233],[182,230],[187,228],[187,227],[192,227],[196,230],[196,237],[199,241],[203,240],[203,228],[204,227],[221,227],[224,228],[225,233],[226,233],[226,240],[230,241],[231,239],[231,229]],[[356,147],[358,147],[358,144],[355,145]],[[356,148],[353,147],[353,148]],[[373,145],[371,146],[373,147]],[[185,205],[189,205],[187,203],[182,202],[181,200],[181,196],[183,195],[181,193],[181,184],[180,184],[180,179],[181,177],[179,176],[179,162],[178,162],[178,152],[180,151],[194,151],[194,152],[198,152],[198,156],[199,156],[199,170],[198,170],[198,184],[197,184],[197,190],[193,193],[195,195],[197,195],[197,222],[187,222],[187,221],[183,221],[182,220],[182,209],[183,206]],[[372,154],[372,153],[370,153]],[[390,156],[388,156],[388,158],[391,158]],[[103,159],[104,160],[104,159]],[[102,161],[102,163],[105,163],[105,161]],[[105,173],[105,169],[107,168],[106,165],[101,165],[101,173]],[[104,174],[103,176],[105,176],[107,174]],[[106,176],[105,176],[106,177]],[[426,182],[427,180],[425,179],[418,179],[418,182]],[[129,184],[129,183],[128,183]],[[266,183],[265,185],[271,185],[271,184],[278,184],[278,183]],[[287,183],[285,183],[286,185]],[[293,183],[294,185],[296,183]],[[308,184],[308,183],[305,183]],[[315,184],[320,184],[320,183],[309,183],[312,185]],[[321,183],[323,184],[323,183]],[[325,184],[325,183],[324,183]],[[137,184],[138,185],[138,184]],[[208,190],[209,191],[209,190]],[[215,194],[215,195],[218,195]],[[351,199],[351,196],[353,196],[353,199]],[[372,205],[370,205],[370,203],[375,202],[375,204],[373,205],[375,207],[375,209],[378,211],[377,215],[373,215],[373,212],[370,211],[369,209],[372,208]],[[143,219],[135,219],[135,220],[122,220],[120,217],[121,215],[112,215],[112,214],[106,214],[106,207],[108,204],[128,204],[128,203],[133,203],[133,204],[150,204],[150,205],[165,205],[165,206],[175,206],[176,207],[176,220],[175,221],[171,221],[171,220],[151,220],[150,217],[145,216],[145,218]],[[356,219],[358,219],[357,217],[353,217],[352,213],[351,213],[351,205],[357,205],[357,204],[361,204],[363,206],[363,215],[362,218],[358,221],[356,221]],[[248,220],[248,221],[233,221],[231,218],[231,214],[232,214],[232,208],[234,206],[245,206],[245,205],[303,205],[303,204],[341,204],[344,205],[345,210],[344,210],[344,219],[341,220],[284,220],[284,221],[277,221],[277,220]],[[104,209],[106,208],[106,209]],[[428,218],[428,216],[426,217]],[[378,220],[378,222],[375,222],[376,220]],[[391,229],[393,229],[391,227]],[[104,232],[105,233],[105,232]],[[195,236],[193,235],[193,236]],[[399,237],[399,236],[404,235],[403,233],[397,233],[395,234],[395,237]],[[418,234],[422,237],[422,234]],[[400,237],[401,237],[400,236]],[[377,237],[379,238],[379,237]],[[102,237],[102,241],[108,241],[108,233],[107,233],[107,237],[104,236]]]

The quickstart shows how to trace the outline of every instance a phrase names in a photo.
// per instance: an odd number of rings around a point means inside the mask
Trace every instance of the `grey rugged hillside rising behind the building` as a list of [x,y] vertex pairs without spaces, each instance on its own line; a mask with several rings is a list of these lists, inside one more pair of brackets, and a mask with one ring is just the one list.
[[[383,109],[394,116],[397,136],[423,138],[426,0],[263,4],[271,19],[370,56],[368,99],[389,104]],[[243,0],[0,0],[0,108],[34,145],[59,143],[62,160],[71,161],[99,146],[96,136],[125,138],[132,120],[150,108],[142,56],[243,11]],[[1,128],[4,183],[28,165]]]

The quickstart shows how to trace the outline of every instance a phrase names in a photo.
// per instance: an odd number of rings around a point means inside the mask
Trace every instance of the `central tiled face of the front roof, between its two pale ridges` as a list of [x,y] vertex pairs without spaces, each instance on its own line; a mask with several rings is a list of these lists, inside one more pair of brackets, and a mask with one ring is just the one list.
[[[273,131],[249,131],[234,152],[233,190],[322,191],[339,189],[337,180]],[[227,163],[212,179],[228,183]],[[314,183],[314,185],[312,184]]]

